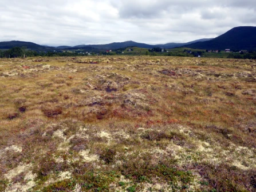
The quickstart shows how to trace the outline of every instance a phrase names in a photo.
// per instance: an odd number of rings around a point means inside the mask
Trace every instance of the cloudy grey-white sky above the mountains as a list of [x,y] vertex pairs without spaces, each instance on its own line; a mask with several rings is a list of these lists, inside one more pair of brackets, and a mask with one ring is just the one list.
[[256,26],[255,0],[0,0],[0,42],[148,44],[215,38]]

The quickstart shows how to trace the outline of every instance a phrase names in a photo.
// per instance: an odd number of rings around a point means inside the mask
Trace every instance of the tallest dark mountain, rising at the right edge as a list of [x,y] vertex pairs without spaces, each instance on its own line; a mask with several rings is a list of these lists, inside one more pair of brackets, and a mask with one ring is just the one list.
[[196,42],[186,47],[216,50],[256,50],[256,27],[234,27],[210,41]]

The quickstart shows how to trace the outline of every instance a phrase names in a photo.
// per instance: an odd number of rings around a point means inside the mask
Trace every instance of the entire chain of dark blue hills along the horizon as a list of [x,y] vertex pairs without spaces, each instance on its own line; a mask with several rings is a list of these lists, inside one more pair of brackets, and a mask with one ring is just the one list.
[[9,41],[0,42],[0,49],[10,49],[11,47],[27,47],[27,49],[99,49],[99,50],[111,50],[120,49],[124,47],[140,47],[146,49],[152,49],[153,47],[161,47],[163,49],[174,47],[188,47],[195,49],[218,49],[218,50],[256,50],[256,27],[234,27],[227,31],[225,34],[216,38],[210,39],[197,39],[195,41],[187,43],[166,43],[159,45],[149,45],[145,43],[138,43],[134,41],[114,42],[103,45],[77,45],[77,46],[58,46],[48,47],[41,46],[32,42],[23,41]]

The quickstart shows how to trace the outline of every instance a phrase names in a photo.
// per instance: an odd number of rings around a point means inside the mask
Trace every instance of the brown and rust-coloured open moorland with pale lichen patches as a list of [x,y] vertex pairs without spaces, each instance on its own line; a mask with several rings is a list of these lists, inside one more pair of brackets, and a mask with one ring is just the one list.
[[0,191],[256,191],[256,62],[0,59]]

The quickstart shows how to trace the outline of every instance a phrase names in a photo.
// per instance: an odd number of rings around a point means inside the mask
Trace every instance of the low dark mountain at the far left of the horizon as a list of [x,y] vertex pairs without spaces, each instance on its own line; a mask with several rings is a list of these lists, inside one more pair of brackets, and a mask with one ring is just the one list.
[[[0,49],[11,49],[11,47],[27,47],[27,49],[45,49],[45,46],[25,41],[4,41],[0,42]],[[49,47],[48,47],[49,48]]]

